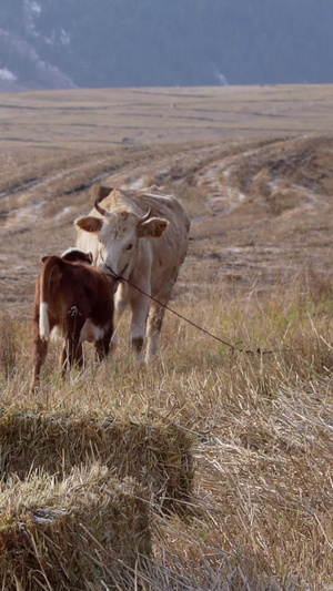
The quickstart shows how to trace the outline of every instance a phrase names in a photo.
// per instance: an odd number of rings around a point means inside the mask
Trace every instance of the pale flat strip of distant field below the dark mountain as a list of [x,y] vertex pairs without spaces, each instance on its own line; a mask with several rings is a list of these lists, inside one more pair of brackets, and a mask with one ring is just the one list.
[[332,85],[93,89],[1,95],[0,150],[107,149],[332,132]]

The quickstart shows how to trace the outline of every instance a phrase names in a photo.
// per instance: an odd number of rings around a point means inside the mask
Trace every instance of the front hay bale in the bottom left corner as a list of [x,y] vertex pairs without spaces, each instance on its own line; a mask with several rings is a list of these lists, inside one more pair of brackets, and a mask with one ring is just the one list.
[[0,493],[1,589],[132,589],[150,556],[142,489],[105,468],[58,485],[32,478]]

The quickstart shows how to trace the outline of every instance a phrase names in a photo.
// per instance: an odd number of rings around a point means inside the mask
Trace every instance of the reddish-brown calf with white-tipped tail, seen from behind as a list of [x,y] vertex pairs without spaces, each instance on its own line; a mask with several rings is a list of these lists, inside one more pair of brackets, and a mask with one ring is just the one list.
[[75,361],[82,366],[82,342],[94,343],[101,360],[109,353],[113,333],[113,292],[104,273],[91,266],[92,256],[72,248],[60,256],[44,256],[36,284],[33,309],[33,378],[39,386],[40,369],[48,353],[51,330],[64,339],[60,357],[62,376]]

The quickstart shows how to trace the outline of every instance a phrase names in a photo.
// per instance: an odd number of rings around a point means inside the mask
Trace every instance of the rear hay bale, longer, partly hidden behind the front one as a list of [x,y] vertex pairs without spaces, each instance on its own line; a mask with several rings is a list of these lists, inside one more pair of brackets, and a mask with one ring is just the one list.
[[186,502],[194,476],[192,439],[175,425],[44,412],[3,412],[0,471],[24,478],[33,469],[64,477],[73,466],[100,461],[119,478],[149,487],[164,509]]

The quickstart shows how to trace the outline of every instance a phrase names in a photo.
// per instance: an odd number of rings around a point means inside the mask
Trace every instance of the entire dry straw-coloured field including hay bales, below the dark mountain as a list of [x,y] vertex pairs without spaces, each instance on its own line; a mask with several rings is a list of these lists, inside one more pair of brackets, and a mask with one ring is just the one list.
[[[0,96],[1,589],[333,590],[332,111],[324,85]],[[170,306],[225,343],[168,312],[139,371],[124,315],[31,396],[40,258],[101,182],[184,203]]]

